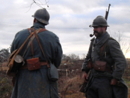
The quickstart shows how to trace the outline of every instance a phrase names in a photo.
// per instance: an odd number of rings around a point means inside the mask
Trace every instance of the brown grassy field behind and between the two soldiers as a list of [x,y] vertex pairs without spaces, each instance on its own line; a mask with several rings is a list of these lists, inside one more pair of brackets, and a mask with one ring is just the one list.
[[[59,95],[61,98],[85,98],[84,93],[79,92],[81,79],[81,63],[82,61],[75,61],[67,63],[60,67],[58,80]],[[3,64],[5,65],[5,63]],[[0,98],[10,98],[12,92],[11,78],[5,74],[7,67],[2,65],[0,70]],[[130,98],[130,68],[125,71],[124,80],[129,87]]]

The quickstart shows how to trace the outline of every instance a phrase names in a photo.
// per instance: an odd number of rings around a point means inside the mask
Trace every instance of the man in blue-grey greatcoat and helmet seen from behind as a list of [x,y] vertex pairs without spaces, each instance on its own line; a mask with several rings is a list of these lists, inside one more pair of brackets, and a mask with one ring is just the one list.
[[[57,81],[50,81],[48,79],[48,64],[46,62],[48,58],[57,68],[60,66],[62,48],[59,38],[56,34],[45,28],[50,17],[45,8],[37,10],[33,17],[34,24],[31,28],[33,30],[44,29],[44,31],[39,32],[37,35],[46,57],[42,54],[36,38],[33,39],[28,49],[26,49],[27,45],[24,46],[19,55],[23,56],[25,64],[16,74],[11,98],[59,98]],[[18,49],[29,35],[29,29],[19,31],[13,40],[11,52]],[[25,50],[27,51],[24,54]],[[41,64],[41,68],[32,71],[28,70],[26,61],[31,58],[39,58],[40,61],[38,63]]]

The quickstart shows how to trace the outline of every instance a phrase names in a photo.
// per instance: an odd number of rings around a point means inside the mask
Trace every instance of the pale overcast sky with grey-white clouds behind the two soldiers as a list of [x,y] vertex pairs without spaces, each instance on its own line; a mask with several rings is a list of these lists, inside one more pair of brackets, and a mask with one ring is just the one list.
[[[44,7],[50,13],[46,28],[59,36],[63,53],[84,57],[87,54],[93,29],[93,19],[105,12],[111,4],[108,16],[108,32],[118,40],[125,53],[130,46],[130,0],[0,0],[0,49],[9,48],[15,34],[33,24],[32,15]],[[39,6],[38,6],[39,5]],[[47,5],[49,7],[47,7]]]

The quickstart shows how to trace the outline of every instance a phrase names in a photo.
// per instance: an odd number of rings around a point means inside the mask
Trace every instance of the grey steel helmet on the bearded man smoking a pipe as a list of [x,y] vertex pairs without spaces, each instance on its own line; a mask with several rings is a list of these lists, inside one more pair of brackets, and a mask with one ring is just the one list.
[[90,25],[90,27],[96,27],[96,26],[108,27],[106,19],[103,16],[97,16],[93,20],[93,24]]

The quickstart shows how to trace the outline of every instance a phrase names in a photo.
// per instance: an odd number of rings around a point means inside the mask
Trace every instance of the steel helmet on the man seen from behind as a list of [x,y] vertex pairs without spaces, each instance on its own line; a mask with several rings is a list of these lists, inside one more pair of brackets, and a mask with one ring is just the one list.
[[50,15],[45,8],[38,9],[32,17],[35,17],[39,22],[48,24]]

